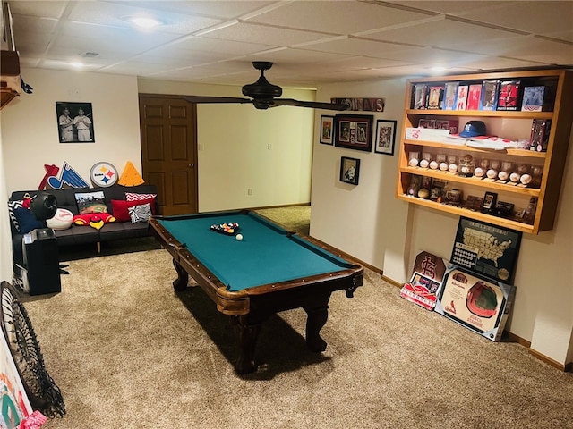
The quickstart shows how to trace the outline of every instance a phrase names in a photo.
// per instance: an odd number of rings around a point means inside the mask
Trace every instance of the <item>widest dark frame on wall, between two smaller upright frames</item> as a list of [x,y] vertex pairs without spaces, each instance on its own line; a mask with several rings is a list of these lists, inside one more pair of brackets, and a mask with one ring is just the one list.
[[372,150],[372,115],[337,114],[334,117],[336,131],[334,146],[347,149]]

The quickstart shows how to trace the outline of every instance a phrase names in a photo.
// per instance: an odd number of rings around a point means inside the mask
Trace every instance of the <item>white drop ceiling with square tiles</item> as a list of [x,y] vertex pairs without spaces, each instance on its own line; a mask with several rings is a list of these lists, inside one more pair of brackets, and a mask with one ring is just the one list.
[[[21,66],[293,88],[573,68],[571,1],[9,1]],[[128,17],[162,25],[136,29]]]

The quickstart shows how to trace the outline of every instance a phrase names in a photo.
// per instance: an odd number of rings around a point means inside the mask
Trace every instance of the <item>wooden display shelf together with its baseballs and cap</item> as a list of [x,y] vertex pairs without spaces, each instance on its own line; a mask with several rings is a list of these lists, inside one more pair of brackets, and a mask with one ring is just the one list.
[[[497,85],[498,93],[482,100],[478,110],[452,110],[445,100],[432,109],[415,103],[417,87],[486,81],[519,84],[511,91]],[[546,88],[552,95],[543,100],[543,109],[518,102],[531,87]],[[565,97],[571,92],[573,71],[565,70],[408,80],[397,198],[516,231],[552,230],[573,122],[573,97]],[[500,97],[507,99],[500,103]],[[485,101],[498,107],[486,109]],[[514,104],[511,109],[499,107]],[[432,128],[436,123],[444,125]],[[497,195],[499,210],[479,209],[486,193]]]

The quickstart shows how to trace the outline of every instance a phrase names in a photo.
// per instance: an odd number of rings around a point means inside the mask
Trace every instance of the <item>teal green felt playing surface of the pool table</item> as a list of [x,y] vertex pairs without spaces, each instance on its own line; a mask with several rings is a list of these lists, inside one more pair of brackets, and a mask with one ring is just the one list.
[[[252,212],[200,214],[158,222],[230,291],[337,272],[351,266]],[[238,223],[239,228],[234,235],[210,230],[211,225],[223,223]],[[243,240],[236,240],[236,233],[241,233]]]

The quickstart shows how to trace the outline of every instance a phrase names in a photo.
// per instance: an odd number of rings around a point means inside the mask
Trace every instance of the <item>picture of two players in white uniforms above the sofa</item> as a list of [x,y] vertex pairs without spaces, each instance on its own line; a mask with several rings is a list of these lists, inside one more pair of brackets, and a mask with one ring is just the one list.
[[56,101],[56,121],[60,143],[96,141],[91,103]]

